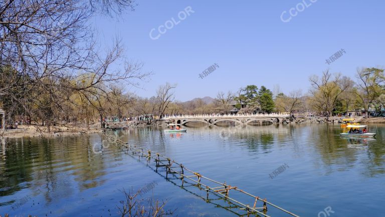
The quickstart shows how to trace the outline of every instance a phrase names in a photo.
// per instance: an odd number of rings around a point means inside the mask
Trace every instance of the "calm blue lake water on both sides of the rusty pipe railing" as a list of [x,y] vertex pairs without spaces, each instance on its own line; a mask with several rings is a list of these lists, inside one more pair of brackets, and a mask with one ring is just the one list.
[[[300,215],[382,216],[385,212],[385,125],[369,125],[376,139],[346,139],[339,126],[248,126],[111,132],[169,156],[187,168],[226,181]],[[0,151],[0,214],[11,216],[118,216],[123,188],[154,187],[142,195],[167,200],[173,216],[236,216],[205,201],[206,192],[165,179],[152,162],[99,135],[11,139]],[[275,169],[288,168],[271,178]],[[253,204],[254,201],[250,201]],[[234,209],[234,211],[236,211]],[[239,213],[244,213],[238,211]],[[268,213],[278,214],[272,208]],[[320,215],[323,216],[323,215]]]

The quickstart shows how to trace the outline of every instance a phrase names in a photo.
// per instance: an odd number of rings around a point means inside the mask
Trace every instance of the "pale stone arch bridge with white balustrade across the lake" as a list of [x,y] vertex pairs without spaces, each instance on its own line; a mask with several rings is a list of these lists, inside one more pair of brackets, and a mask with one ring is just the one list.
[[185,125],[189,122],[202,122],[209,125],[216,125],[224,121],[232,121],[240,125],[250,124],[252,122],[270,122],[282,123],[283,119],[289,117],[287,114],[255,114],[255,115],[190,115],[190,116],[170,116],[164,117],[166,122]]

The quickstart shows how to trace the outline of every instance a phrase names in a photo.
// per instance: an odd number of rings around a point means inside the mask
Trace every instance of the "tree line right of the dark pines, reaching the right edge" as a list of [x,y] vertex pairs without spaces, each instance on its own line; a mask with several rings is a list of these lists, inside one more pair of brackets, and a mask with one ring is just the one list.
[[316,112],[325,117],[361,110],[368,117],[369,108],[381,113],[381,108],[385,108],[384,70],[359,68],[355,73],[356,81],[353,79],[329,70],[322,72],[321,76],[312,75],[308,94],[301,95],[300,90],[288,95],[278,94],[277,111],[290,114]]

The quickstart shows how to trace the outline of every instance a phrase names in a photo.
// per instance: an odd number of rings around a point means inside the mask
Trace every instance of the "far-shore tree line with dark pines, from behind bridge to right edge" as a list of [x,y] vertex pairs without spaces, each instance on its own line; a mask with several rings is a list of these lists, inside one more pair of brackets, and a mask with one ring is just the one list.
[[[265,86],[247,85],[237,92],[219,92],[214,102],[202,99],[187,103],[170,102],[169,114],[256,114],[287,113],[290,115],[309,113],[330,117],[346,115],[351,111],[381,114],[385,108],[385,74],[381,68],[359,68],[354,78],[329,70],[320,76],[309,77],[310,89],[281,92],[279,86],[274,93]],[[236,110],[234,110],[237,108]]]

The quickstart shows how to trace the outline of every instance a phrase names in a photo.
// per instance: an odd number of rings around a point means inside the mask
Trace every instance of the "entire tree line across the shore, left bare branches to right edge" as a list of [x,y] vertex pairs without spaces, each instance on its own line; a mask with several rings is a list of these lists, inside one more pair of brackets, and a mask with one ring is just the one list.
[[[134,10],[132,0],[8,0],[0,6],[0,107],[7,124],[28,119],[50,127],[70,122],[92,123],[106,116],[172,114],[316,112],[331,116],[349,110],[385,105],[384,70],[362,68],[356,81],[325,71],[309,78],[311,89],[274,93],[247,85],[237,92],[219,92],[213,102],[180,102],[175,84],[160,85],[152,97],[127,91],[139,87],[151,72],[128,61],[118,38],[106,50],[90,22]],[[367,114],[367,112],[366,112]]]

